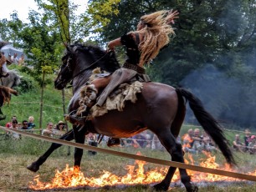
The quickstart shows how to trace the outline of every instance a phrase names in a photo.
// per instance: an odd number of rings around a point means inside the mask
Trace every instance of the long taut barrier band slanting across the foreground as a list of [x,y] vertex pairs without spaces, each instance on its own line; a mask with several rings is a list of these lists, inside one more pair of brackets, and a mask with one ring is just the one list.
[[155,159],[155,158],[140,156],[140,155],[136,155],[136,154],[127,154],[127,153],[123,153],[120,151],[103,149],[103,148],[93,147],[93,146],[89,146],[89,145],[85,145],[85,144],[77,144],[77,143],[73,143],[70,141],[62,140],[62,139],[54,139],[54,138],[50,138],[50,137],[46,137],[46,136],[41,136],[38,134],[30,134],[30,133],[26,133],[26,132],[23,132],[20,130],[7,129],[2,126],[0,126],[0,129],[3,129],[8,132],[22,134],[24,136],[28,136],[33,139],[41,139],[41,140],[49,141],[49,142],[56,143],[56,144],[64,144],[64,145],[76,147],[79,149],[88,149],[88,150],[92,150],[92,151],[102,152],[105,154],[113,154],[115,156],[120,156],[120,157],[125,157],[125,158],[130,158],[130,159],[138,159],[138,160],[146,161],[146,162],[153,163],[153,164],[161,164],[161,165],[172,166],[172,167],[177,167],[177,168],[181,168],[181,169],[190,169],[190,170],[199,171],[199,172],[208,173],[208,174],[218,174],[218,175],[223,175],[223,176],[227,176],[227,177],[233,177],[236,179],[246,179],[246,180],[256,181],[256,176],[253,176],[253,175],[239,174],[239,173],[226,171],[226,170],[220,170],[220,169],[205,168],[205,167],[200,167],[200,166],[192,165],[192,164],[182,164],[182,163],[179,163],[176,161]]

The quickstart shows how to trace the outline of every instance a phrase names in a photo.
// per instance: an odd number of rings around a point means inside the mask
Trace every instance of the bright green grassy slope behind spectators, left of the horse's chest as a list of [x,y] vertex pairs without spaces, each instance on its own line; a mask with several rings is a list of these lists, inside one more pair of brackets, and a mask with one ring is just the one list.
[[[40,129],[40,98],[41,89],[39,87],[28,90],[26,93],[20,93],[18,97],[13,96],[11,103],[9,105],[5,104],[2,107],[3,114],[5,114],[7,118],[2,120],[0,125],[4,126],[6,123],[10,122],[13,115],[17,116],[18,122],[28,120],[29,116],[33,116],[36,128]],[[66,89],[66,107],[69,103],[69,99],[71,99],[71,89]],[[51,83],[44,88],[42,128],[44,129],[46,124],[50,121],[57,124],[59,120],[64,121],[62,92],[54,89],[54,85]]]

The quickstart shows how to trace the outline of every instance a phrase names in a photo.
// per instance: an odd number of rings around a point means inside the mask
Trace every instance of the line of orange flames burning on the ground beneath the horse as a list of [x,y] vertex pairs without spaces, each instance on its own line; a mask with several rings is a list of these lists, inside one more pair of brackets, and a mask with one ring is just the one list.
[[[212,156],[210,153],[204,153],[207,156],[206,160],[202,160],[200,166],[212,168],[212,169],[221,169],[220,165],[215,162],[215,156]],[[188,156],[189,160],[194,164],[192,155]],[[189,161],[185,159],[185,163],[189,164]],[[29,182],[28,188],[33,190],[44,190],[44,189],[64,189],[64,188],[74,188],[80,186],[90,186],[90,187],[103,187],[105,185],[121,185],[121,184],[152,184],[160,182],[164,179],[168,168],[156,168],[149,172],[145,173],[144,165],[146,162],[136,160],[135,165],[126,166],[127,174],[125,176],[118,176],[111,174],[109,171],[103,171],[103,174],[99,178],[95,177],[85,177],[83,172],[79,167],[69,167],[69,164],[66,164],[66,168],[59,172],[56,170],[54,179],[51,183],[44,183],[39,181],[39,175],[37,175],[33,182]],[[225,165],[225,170],[232,171],[228,165]],[[178,169],[177,169],[178,170]],[[207,174],[201,172],[195,172],[187,170],[187,173],[192,176],[193,182],[202,182],[202,181],[238,181],[240,179],[229,178],[226,176],[220,176],[216,174]],[[254,172],[249,172],[248,174],[256,175],[256,170]],[[178,171],[173,175],[172,181],[177,182],[179,180]]]

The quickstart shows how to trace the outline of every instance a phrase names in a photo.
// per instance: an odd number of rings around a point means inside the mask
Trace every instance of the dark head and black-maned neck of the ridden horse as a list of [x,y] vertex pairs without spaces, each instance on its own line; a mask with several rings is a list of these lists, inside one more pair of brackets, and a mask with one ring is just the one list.
[[110,73],[120,68],[115,53],[106,53],[99,47],[79,43],[66,46],[62,66],[54,80],[55,88],[63,89],[73,78],[82,78],[86,82],[97,67]]

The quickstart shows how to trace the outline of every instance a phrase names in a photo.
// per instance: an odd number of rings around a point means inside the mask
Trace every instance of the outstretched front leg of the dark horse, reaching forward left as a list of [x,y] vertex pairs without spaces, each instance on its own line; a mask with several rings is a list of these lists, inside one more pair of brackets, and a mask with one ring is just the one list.
[[[73,140],[74,139],[74,133],[73,133],[73,129],[71,129],[69,132],[67,132],[66,134],[62,135],[59,139],[63,139],[63,140]],[[33,171],[33,172],[37,172],[40,165],[44,164],[44,162],[46,161],[46,159],[49,158],[49,155],[52,154],[54,152],[55,149],[58,149],[62,144],[51,144],[51,146],[49,147],[49,149],[38,158],[38,160],[34,161],[32,164],[28,165],[27,169]]]

